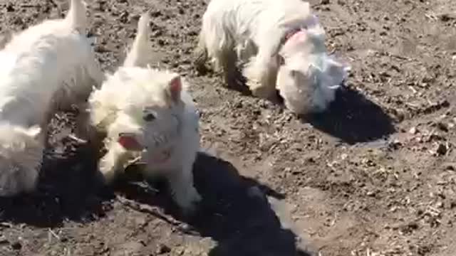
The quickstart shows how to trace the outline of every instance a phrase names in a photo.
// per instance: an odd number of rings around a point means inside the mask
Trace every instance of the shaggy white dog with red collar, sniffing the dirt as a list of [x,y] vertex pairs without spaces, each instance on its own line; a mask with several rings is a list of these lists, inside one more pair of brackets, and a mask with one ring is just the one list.
[[212,0],[202,17],[197,60],[210,59],[227,84],[244,64],[247,86],[296,114],[319,112],[334,100],[346,67],[326,55],[324,30],[302,0]]

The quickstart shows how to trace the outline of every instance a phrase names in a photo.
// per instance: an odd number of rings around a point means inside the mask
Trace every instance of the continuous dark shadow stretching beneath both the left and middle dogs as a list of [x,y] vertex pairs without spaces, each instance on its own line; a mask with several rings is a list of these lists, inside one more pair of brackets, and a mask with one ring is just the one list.
[[203,201],[192,218],[180,215],[163,182],[153,183],[155,188],[145,184],[134,166],[115,186],[103,188],[93,149],[64,136],[72,118],[63,114],[51,121],[51,151],[46,151],[37,191],[1,198],[0,222],[48,228],[66,220],[86,223],[103,218],[113,208],[110,199],[117,197],[125,206],[161,218],[184,233],[212,238],[217,246],[210,250],[211,256],[310,255],[297,248],[296,235],[282,228],[266,198],[284,199],[284,195],[207,154],[199,154],[194,166]]

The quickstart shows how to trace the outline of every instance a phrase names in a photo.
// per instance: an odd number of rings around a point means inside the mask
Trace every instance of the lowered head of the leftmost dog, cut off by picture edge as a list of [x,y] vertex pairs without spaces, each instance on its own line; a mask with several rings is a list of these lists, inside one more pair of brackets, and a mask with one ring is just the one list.
[[41,128],[0,124],[0,196],[31,191],[43,157]]

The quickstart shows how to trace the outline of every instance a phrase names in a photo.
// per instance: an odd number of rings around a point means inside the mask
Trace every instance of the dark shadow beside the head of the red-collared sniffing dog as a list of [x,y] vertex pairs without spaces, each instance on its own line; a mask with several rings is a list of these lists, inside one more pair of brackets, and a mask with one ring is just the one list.
[[372,142],[395,132],[393,119],[380,106],[345,86],[325,112],[301,120],[348,144]]

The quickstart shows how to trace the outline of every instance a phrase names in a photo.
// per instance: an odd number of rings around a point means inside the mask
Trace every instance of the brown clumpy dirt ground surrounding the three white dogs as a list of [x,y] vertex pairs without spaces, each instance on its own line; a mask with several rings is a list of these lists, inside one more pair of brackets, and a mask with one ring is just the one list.
[[[160,182],[95,179],[93,151],[51,122],[36,193],[0,200],[0,255],[456,255],[456,2],[311,1],[352,67],[336,102],[299,119],[192,68],[204,0],[91,0],[105,70],[150,10],[162,67],[202,112],[204,198],[185,218]],[[2,0],[0,33],[65,14],[65,0]],[[62,135],[63,134],[63,135]]]

